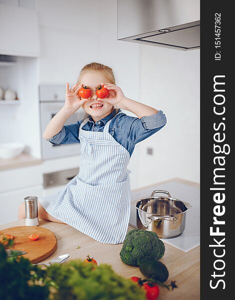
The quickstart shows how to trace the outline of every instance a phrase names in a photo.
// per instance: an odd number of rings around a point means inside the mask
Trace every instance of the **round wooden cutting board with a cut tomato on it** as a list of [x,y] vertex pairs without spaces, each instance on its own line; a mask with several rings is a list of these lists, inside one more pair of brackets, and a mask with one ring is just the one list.
[[[27,252],[22,256],[28,258],[32,263],[39,262],[50,256],[56,249],[57,240],[54,233],[46,228],[38,226],[18,226],[0,230],[14,236],[13,247]],[[30,240],[28,235],[39,234],[38,239]]]

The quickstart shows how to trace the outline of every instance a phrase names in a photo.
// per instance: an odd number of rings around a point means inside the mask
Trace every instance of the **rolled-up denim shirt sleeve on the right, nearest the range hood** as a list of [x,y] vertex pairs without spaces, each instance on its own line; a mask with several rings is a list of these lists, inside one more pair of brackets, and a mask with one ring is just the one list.
[[122,135],[133,145],[146,139],[165,126],[167,118],[162,110],[142,118],[120,114],[117,117],[118,128]]

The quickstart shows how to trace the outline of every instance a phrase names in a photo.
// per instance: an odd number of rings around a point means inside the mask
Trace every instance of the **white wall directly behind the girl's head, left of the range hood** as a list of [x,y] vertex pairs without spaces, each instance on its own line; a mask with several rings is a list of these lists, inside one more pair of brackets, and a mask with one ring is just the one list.
[[[85,64],[98,61],[113,68],[127,97],[139,100],[140,45],[117,40],[116,0],[37,0],[35,8],[39,84],[74,84]],[[138,187],[137,162],[138,147],[129,164],[132,188]]]

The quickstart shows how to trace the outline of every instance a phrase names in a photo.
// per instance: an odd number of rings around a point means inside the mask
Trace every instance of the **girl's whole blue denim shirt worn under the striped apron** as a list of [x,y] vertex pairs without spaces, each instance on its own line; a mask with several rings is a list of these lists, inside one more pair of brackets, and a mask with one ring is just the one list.
[[[120,108],[116,113],[119,111],[121,111]],[[115,110],[96,122],[94,122],[89,115],[89,120],[82,129],[89,131],[103,131],[107,121],[113,118],[109,124],[109,133],[117,142],[127,149],[130,156],[138,142],[159,131],[167,122],[166,116],[162,110],[159,110],[152,115],[143,116],[142,118],[133,117],[124,112],[119,113],[116,117],[114,117],[114,115]],[[63,128],[56,135],[49,138],[48,141],[55,145],[80,142],[78,133],[81,123],[82,120],[79,120],[74,124],[64,125]]]

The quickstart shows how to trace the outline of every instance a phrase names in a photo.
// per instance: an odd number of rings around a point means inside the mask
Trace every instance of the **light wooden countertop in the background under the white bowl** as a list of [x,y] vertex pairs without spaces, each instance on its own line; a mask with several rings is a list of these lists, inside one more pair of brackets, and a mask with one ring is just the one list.
[[33,157],[27,153],[22,153],[14,158],[3,159],[0,158],[0,171],[16,168],[16,167],[24,167],[35,164],[41,164],[42,160],[40,158]]

